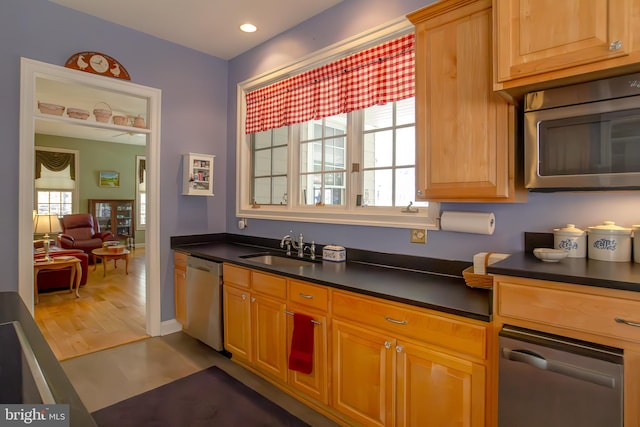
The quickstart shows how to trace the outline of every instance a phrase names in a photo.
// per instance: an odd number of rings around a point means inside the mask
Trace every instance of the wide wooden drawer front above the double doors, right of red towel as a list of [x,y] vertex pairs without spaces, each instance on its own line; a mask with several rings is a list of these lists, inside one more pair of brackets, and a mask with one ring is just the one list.
[[334,292],[331,303],[334,316],[385,329],[393,333],[394,338],[414,338],[423,343],[486,358],[486,326],[344,292]]

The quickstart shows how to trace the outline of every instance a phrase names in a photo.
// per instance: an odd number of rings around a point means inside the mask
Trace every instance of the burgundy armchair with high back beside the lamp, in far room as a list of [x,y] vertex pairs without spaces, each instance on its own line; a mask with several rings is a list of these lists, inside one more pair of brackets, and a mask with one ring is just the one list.
[[106,241],[117,240],[110,231],[100,232],[91,214],[71,214],[60,218],[62,233],[58,244],[63,249],[80,249],[95,262],[92,250],[102,247]]

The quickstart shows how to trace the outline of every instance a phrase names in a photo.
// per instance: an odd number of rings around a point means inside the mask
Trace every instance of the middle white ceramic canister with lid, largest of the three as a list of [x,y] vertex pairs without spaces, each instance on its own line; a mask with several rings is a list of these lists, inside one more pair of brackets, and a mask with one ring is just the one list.
[[600,261],[631,261],[631,229],[613,221],[588,227],[589,258]]

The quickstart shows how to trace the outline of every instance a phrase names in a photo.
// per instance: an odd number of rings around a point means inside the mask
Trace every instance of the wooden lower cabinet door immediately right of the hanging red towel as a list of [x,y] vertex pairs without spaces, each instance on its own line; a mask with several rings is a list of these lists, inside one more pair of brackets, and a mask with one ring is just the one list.
[[333,319],[332,406],[368,426],[394,426],[395,340]]

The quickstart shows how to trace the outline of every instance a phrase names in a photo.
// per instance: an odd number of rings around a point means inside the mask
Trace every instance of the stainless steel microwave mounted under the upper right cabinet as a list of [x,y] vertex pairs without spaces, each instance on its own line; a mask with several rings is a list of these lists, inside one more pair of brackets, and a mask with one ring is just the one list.
[[640,73],[525,95],[525,186],[640,189]]

